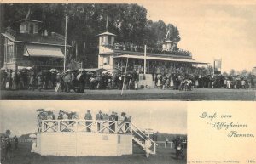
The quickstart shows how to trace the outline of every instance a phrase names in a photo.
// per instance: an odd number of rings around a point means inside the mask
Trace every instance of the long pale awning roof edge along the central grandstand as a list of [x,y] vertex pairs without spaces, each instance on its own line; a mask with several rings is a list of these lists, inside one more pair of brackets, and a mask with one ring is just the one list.
[[[144,56],[133,55],[133,54],[122,54],[119,56],[115,56],[114,58],[132,58],[132,59],[144,59]],[[164,58],[164,57],[154,57],[154,56],[146,56],[146,59],[154,59],[154,60],[163,60],[163,61],[177,61],[184,63],[192,63],[192,64],[203,64],[207,65],[208,63],[195,61],[194,59],[175,59],[175,58]]]

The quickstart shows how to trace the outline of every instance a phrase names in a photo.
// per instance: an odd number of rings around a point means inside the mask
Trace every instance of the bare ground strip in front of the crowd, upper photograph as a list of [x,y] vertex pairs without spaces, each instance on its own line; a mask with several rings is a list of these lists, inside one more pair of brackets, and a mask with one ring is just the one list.
[[96,99],[96,100],[145,100],[145,99],[178,99],[178,100],[256,100],[256,89],[223,89],[195,88],[192,91],[147,88],[139,90],[85,90],[84,93],[55,93],[54,90],[39,92],[18,90],[1,91],[1,99]]

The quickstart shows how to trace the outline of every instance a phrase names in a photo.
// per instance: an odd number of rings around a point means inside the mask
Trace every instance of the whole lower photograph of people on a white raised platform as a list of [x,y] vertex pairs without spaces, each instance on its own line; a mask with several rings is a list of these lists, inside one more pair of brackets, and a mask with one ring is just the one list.
[[1,163],[187,163],[187,104],[1,101]]

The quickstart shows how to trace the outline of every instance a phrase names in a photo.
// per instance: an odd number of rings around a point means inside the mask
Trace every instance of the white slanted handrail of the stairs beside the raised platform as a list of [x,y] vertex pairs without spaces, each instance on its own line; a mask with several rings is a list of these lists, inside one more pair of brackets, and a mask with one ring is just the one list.
[[[156,154],[156,146],[157,146],[158,144],[156,144],[156,143],[154,142],[154,140],[148,138],[148,136],[147,136],[145,133],[143,133],[143,132],[142,132],[137,126],[135,126],[133,123],[131,123],[131,129],[132,129],[132,134],[133,134],[133,136],[135,137],[135,136],[137,135],[136,139],[134,139],[134,140],[136,140],[136,142],[137,142],[139,139],[143,139],[142,142],[145,143],[145,141],[146,141],[147,139],[149,139],[150,142],[151,142],[151,144],[152,144],[152,145],[151,145],[151,148],[150,148],[150,150],[152,150],[151,154]],[[142,143],[142,144],[143,144],[143,143]]]

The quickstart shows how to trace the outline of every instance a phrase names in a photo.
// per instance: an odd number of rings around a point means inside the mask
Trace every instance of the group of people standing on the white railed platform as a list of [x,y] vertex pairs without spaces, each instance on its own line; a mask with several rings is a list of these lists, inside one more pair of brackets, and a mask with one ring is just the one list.
[[[42,130],[41,126],[44,126],[44,129],[49,129],[48,125],[42,124],[42,121],[53,121],[53,120],[64,120],[67,125],[72,125],[73,121],[66,121],[66,120],[77,120],[79,119],[79,114],[77,112],[67,112],[65,110],[60,110],[58,113],[58,116],[56,117],[53,111],[45,111],[44,109],[38,109],[38,132]],[[126,116],[125,112],[121,112],[120,115],[112,111],[110,114],[108,113],[102,113],[100,110],[96,116],[95,119],[92,117],[90,110],[87,110],[87,112],[84,115],[85,125],[86,125],[86,132],[92,132],[92,122],[96,121],[96,132],[102,133],[102,132],[108,132],[114,133],[116,132],[116,126],[119,127],[121,124],[124,124],[124,133],[131,133],[129,131],[129,128],[131,127],[131,116]],[[119,124],[116,124],[115,122],[119,122]],[[51,122],[53,123],[53,122]],[[63,126],[62,126],[63,127]],[[65,132],[69,132],[70,129],[65,127],[60,127],[61,130],[64,130]],[[105,128],[108,127],[108,128]],[[106,131],[107,130],[107,131]]]

